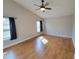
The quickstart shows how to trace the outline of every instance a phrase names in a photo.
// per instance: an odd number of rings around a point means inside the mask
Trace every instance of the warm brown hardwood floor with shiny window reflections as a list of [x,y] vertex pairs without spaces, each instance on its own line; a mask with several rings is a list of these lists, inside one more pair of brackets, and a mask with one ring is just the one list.
[[4,59],[74,59],[71,39],[42,35],[4,50]]

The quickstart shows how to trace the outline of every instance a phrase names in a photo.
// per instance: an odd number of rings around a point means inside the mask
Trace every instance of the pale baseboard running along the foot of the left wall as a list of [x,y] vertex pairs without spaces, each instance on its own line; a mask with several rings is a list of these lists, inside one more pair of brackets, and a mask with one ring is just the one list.
[[31,37],[25,38],[25,39],[23,39],[23,40],[21,40],[21,41],[18,41],[18,42],[13,43],[13,44],[7,45],[7,46],[3,47],[3,50],[4,50],[4,49],[7,49],[7,48],[9,48],[9,47],[12,47],[12,46],[14,46],[14,45],[17,45],[17,44],[19,44],[19,43],[22,43],[22,42],[24,42],[24,41],[27,41],[27,40],[29,40],[29,39],[31,39],[31,38],[40,36],[40,35],[42,35],[42,34],[43,34],[43,32],[38,33],[38,34],[35,34],[35,35],[32,35]]

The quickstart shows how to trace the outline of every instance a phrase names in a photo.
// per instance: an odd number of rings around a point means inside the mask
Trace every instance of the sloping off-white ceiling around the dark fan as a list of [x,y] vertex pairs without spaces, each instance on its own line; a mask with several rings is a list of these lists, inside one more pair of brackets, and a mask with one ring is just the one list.
[[60,17],[71,15],[74,13],[75,9],[75,0],[45,0],[49,3],[48,7],[51,7],[52,10],[46,10],[45,12],[41,12],[40,10],[36,10],[39,7],[34,4],[41,5],[41,0],[14,0],[24,8],[32,11],[36,15],[42,18],[49,17]]

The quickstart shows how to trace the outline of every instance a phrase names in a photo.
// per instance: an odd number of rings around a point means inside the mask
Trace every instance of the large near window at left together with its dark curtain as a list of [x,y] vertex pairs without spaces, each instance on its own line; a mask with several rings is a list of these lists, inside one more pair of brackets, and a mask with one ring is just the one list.
[[13,17],[3,17],[3,39],[16,39],[16,27]]

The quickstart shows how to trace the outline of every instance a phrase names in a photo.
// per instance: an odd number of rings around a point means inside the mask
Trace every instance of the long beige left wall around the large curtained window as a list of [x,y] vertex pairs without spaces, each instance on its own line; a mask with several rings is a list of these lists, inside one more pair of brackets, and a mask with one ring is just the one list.
[[16,17],[16,40],[3,41],[3,47],[9,47],[17,42],[24,41],[32,35],[37,35],[36,32],[36,18],[38,18],[32,12],[18,5],[12,0],[3,0],[3,16]]

